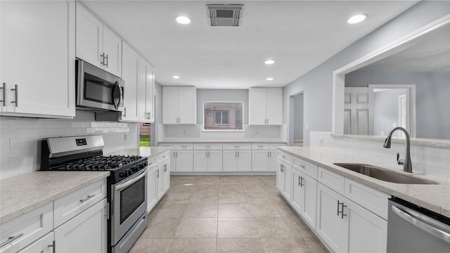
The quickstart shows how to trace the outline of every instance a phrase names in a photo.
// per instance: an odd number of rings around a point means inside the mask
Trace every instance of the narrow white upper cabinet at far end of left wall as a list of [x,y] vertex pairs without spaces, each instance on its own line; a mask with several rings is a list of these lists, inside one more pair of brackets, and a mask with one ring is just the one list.
[[153,66],[143,58],[139,63],[139,122],[155,122],[154,107],[155,72]]

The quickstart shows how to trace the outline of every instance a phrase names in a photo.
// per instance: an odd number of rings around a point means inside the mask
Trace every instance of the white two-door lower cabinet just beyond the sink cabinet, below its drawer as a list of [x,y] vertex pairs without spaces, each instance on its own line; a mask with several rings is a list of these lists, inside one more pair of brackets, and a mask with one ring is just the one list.
[[316,194],[317,181],[310,176],[293,169],[292,207],[309,223],[316,228]]

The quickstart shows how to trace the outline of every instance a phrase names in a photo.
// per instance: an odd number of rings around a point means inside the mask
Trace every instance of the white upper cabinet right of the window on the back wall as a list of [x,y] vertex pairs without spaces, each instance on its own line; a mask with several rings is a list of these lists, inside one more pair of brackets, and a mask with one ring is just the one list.
[[283,89],[250,88],[249,124],[283,124]]

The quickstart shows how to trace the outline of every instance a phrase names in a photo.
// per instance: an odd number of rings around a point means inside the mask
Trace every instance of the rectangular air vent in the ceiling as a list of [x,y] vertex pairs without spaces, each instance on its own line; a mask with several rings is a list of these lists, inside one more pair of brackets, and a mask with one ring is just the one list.
[[239,26],[243,4],[207,4],[211,26]]

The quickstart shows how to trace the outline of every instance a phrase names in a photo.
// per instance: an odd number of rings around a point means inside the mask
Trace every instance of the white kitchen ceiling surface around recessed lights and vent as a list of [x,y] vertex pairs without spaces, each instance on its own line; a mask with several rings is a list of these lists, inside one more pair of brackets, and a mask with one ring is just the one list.
[[[285,86],[417,1],[83,1],[155,67],[162,85]],[[240,27],[210,27],[205,4],[244,4]],[[368,20],[347,25],[356,13]],[[190,25],[174,18],[186,15]],[[264,60],[274,59],[274,65]],[[173,79],[179,75],[180,79]],[[266,81],[273,77],[273,81]]]

